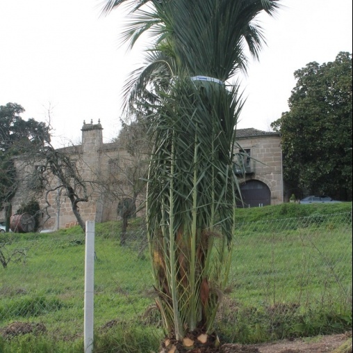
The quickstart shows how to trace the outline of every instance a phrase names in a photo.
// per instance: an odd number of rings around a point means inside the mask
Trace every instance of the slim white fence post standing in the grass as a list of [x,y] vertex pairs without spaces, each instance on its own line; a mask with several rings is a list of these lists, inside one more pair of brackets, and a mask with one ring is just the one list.
[[93,303],[95,287],[95,221],[85,222],[85,353],[93,352]]

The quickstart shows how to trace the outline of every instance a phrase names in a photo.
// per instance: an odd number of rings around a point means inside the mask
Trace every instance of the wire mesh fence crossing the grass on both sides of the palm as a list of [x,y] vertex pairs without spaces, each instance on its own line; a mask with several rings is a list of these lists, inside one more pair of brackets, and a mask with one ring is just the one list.
[[[113,226],[109,234],[96,230],[97,331],[131,317],[151,320],[147,248],[145,230],[128,233],[125,246]],[[27,322],[58,338],[82,336],[83,237],[6,241],[4,235],[0,251],[0,334]],[[352,306],[351,213],[238,224],[227,292],[232,311],[285,303],[302,310]]]

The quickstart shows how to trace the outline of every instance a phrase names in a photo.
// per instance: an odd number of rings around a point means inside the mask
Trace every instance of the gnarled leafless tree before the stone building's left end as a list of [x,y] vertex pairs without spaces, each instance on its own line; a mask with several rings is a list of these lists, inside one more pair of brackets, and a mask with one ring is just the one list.
[[66,199],[70,205],[66,207],[71,207],[77,223],[85,231],[80,205],[90,201],[95,182],[85,173],[83,163],[81,146],[56,149],[51,143],[45,143],[40,150],[22,154],[15,160],[19,184],[16,203],[38,200],[41,205],[38,212],[45,215],[44,226],[53,217],[54,210],[59,217],[60,199]]

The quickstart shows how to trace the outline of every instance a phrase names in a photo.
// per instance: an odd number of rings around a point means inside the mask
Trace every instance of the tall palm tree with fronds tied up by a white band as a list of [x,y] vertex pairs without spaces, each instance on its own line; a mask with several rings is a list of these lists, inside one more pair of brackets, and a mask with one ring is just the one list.
[[235,227],[237,84],[263,45],[254,20],[277,0],[106,0],[104,13],[131,6],[123,37],[154,37],[147,65],[126,85],[128,107],[148,113],[147,232],[156,305],[168,336],[211,333],[227,285]]

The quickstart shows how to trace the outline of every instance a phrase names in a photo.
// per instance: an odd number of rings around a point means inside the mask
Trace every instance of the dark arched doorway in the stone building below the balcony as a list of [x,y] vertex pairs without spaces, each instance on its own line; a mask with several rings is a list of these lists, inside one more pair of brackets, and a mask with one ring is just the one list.
[[270,188],[259,180],[249,180],[240,185],[240,192],[243,203],[240,201],[239,207],[261,207],[271,204]]

